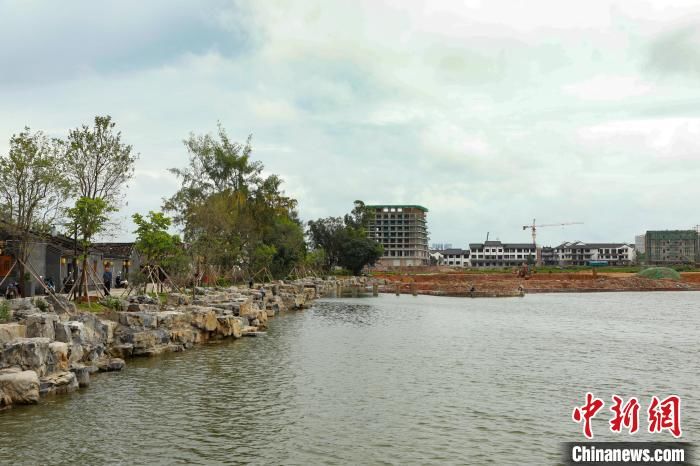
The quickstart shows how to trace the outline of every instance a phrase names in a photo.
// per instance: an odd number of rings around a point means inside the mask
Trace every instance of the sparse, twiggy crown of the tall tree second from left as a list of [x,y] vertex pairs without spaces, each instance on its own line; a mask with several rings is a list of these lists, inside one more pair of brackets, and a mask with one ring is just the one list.
[[119,205],[122,189],[134,174],[138,155],[115,132],[112,117],[96,116],[92,127],[82,125],[68,133],[64,170],[78,197],[101,198]]

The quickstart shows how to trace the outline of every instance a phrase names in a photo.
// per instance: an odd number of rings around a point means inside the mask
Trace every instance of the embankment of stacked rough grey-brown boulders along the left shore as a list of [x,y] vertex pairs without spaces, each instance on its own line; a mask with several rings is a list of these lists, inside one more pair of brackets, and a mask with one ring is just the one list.
[[259,335],[276,314],[304,309],[339,285],[361,284],[356,278],[280,281],[265,285],[264,296],[257,288],[197,288],[160,304],[132,297],[99,314],[78,311],[62,297],[6,301],[11,318],[0,324],[0,410],[88,386],[91,374],[119,371],[131,357]]

